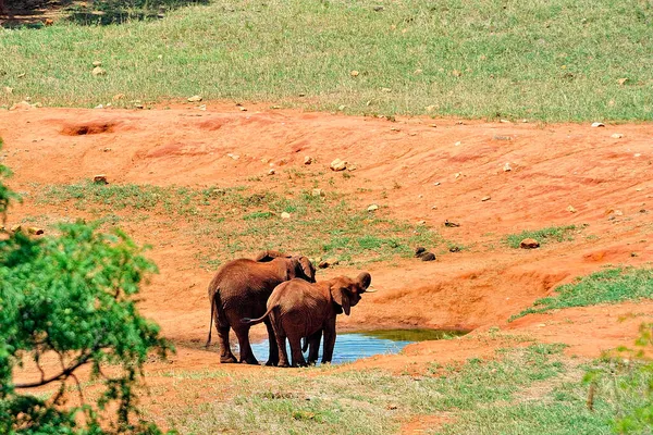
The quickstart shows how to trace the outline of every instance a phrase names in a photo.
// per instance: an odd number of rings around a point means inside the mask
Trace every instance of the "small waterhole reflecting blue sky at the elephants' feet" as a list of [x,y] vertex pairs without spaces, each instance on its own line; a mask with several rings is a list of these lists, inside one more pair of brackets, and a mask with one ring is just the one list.
[[[332,364],[356,361],[374,355],[398,353],[407,345],[416,341],[447,339],[467,334],[468,331],[448,330],[377,330],[338,333],[333,349]],[[322,358],[320,343],[320,358]],[[259,361],[268,358],[268,340],[251,345],[254,355]],[[289,347],[288,347],[288,357]],[[304,355],[308,357],[308,352]],[[318,360],[318,361],[319,361]]]

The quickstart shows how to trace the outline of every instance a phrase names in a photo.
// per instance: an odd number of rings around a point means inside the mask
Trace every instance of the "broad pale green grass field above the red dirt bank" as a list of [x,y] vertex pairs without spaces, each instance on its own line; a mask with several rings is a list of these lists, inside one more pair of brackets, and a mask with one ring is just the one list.
[[0,30],[0,86],[13,88],[0,105],[199,94],[389,116],[651,120],[652,23],[640,0],[215,0],[159,21]]

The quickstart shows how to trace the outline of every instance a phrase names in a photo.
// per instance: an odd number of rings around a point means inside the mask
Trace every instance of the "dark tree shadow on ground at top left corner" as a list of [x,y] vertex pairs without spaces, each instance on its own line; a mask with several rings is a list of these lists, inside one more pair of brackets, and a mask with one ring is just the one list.
[[[0,0],[0,5],[3,0]],[[123,24],[131,21],[160,20],[165,13],[187,5],[208,4],[210,0],[4,0],[0,27],[41,28],[54,20],[78,25]]]

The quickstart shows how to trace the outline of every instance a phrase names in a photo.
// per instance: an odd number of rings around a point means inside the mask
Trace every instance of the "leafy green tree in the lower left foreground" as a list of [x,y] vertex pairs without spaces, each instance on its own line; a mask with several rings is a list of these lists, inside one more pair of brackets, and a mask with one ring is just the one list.
[[[8,174],[1,165],[0,173]],[[4,213],[12,194],[1,179],[0,186]],[[61,225],[59,236],[0,239],[2,434],[161,433],[140,420],[135,391],[151,351],[164,357],[172,349],[133,299],[156,266],[124,233],[96,229],[78,222]],[[12,372],[26,360],[40,376],[15,383]],[[75,374],[83,365],[103,386],[94,406]],[[77,384],[79,406],[65,406],[69,380]],[[49,384],[58,386],[50,399],[23,393]],[[109,409],[115,418],[107,421]]]

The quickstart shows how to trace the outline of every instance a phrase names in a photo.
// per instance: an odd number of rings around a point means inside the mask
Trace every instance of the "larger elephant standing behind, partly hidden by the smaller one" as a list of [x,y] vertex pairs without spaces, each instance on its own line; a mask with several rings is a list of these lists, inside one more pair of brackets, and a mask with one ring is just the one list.
[[[209,301],[211,303],[211,321],[206,347],[211,344],[212,322],[215,321],[220,345],[220,362],[242,362],[258,364],[249,345],[249,325],[241,320],[261,315],[266,311],[266,302],[279,284],[298,278],[316,282],[316,268],[306,257],[287,256],[279,251],[264,251],[257,260],[237,259],[224,264],[209,284]],[[270,355],[267,365],[276,365],[279,349],[274,339],[274,331],[269,321],[268,338]],[[233,328],[241,349],[239,360],[232,353],[229,332]]]

